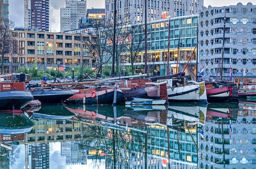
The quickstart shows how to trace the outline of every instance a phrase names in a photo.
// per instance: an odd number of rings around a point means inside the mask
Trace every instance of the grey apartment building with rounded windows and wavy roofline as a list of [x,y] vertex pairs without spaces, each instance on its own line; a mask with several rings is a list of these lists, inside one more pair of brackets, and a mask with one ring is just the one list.
[[199,12],[198,70],[205,65],[202,79],[215,79],[217,76],[220,80],[222,53],[224,79],[229,79],[230,68],[233,78],[255,77],[256,5],[238,3],[228,7],[209,6]]

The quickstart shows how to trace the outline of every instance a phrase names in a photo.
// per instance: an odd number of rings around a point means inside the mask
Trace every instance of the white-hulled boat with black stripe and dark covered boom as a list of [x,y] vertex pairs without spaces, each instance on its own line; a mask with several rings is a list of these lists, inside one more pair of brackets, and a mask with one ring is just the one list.
[[167,81],[169,102],[207,103],[205,82],[188,81],[185,77],[160,79],[157,82]]

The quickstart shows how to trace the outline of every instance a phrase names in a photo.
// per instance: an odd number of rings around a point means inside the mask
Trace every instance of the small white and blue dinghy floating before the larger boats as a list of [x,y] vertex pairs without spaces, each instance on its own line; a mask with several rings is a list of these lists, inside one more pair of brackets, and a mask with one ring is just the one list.
[[142,98],[133,98],[132,101],[126,101],[125,104],[129,105],[164,105],[166,99],[142,99]]

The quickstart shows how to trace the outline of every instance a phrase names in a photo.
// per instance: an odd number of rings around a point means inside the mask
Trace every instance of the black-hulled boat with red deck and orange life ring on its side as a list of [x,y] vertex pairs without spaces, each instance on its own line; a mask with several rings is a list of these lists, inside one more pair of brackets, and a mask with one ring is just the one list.
[[[83,104],[112,104],[114,100],[114,88],[98,87],[86,88],[80,90],[71,90],[75,93],[69,97],[66,103],[83,103]],[[116,89],[116,103],[123,101],[123,92]]]

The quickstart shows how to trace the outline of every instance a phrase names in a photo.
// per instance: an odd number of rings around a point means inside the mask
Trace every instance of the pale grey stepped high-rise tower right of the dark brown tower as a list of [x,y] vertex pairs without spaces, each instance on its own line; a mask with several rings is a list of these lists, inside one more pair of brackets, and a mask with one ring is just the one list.
[[60,31],[77,29],[82,17],[86,17],[86,0],[66,0],[66,6],[60,8]]

